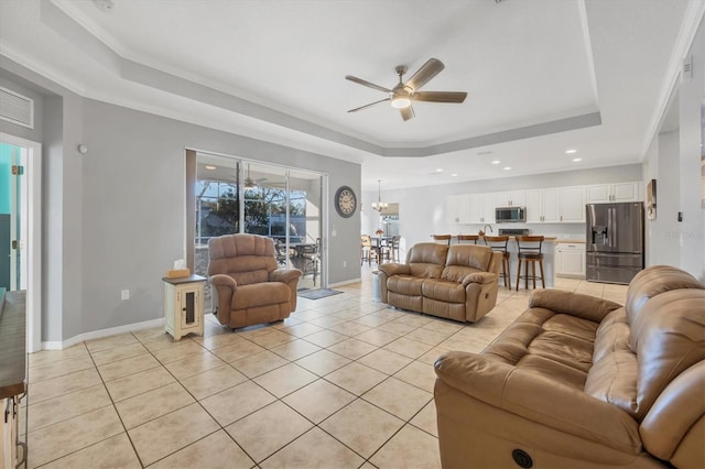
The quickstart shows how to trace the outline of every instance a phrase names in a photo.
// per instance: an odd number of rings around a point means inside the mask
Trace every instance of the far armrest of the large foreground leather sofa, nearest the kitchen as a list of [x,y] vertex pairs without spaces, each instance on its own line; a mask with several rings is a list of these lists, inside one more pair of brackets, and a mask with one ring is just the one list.
[[536,290],[529,301],[529,307],[546,308],[554,313],[567,314],[594,323],[601,323],[605,316],[620,308],[621,305],[582,293],[560,290]]

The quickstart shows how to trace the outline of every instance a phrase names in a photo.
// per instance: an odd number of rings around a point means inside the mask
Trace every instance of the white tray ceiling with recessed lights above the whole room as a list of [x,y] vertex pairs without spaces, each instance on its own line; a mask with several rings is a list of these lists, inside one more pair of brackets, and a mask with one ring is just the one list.
[[[86,97],[361,162],[370,190],[377,179],[388,189],[640,162],[705,10],[113,1],[109,12],[93,0],[0,1],[0,59]],[[446,68],[423,90],[467,91],[465,103],[416,102],[408,122],[387,103],[346,112],[384,98],[346,75],[391,88],[397,65],[410,77],[430,57]]]

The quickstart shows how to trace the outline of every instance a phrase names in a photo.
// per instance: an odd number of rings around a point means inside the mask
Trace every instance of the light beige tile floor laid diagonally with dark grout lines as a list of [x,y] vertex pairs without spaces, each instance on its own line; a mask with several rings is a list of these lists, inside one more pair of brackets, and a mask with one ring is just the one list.
[[[463,325],[372,301],[371,275],[281,323],[163,328],[30,356],[29,466],[438,468],[434,360],[481,351],[531,292]],[[558,279],[623,303],[626,286]]]

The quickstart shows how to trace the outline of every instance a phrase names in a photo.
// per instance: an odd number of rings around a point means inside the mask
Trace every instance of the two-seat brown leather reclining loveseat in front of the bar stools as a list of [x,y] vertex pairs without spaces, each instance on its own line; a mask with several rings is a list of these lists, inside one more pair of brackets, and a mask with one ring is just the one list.
[[474,323],[497,304],[502,254],[487,246],[422,242],[406,262],[379,266],[382,302]]

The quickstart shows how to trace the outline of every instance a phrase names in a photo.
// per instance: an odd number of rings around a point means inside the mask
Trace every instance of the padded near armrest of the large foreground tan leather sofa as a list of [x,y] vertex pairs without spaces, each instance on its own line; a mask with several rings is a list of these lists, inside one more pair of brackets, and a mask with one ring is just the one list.
[[536,370],[452,351],[436,360],[435,372],[447,386],[501,411],[621,452],[641,450],[639,425],[626,412]]

